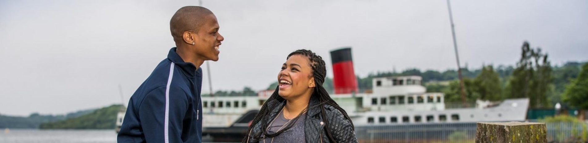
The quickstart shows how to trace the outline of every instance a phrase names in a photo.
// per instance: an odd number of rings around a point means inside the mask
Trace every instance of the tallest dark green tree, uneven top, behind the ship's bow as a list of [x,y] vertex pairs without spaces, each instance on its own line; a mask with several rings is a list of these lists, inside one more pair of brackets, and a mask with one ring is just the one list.
[[529,98],[530,107],[550,107],[547,94],[553,89],[553,75],[547,54],[541,48],[530,48],[525,41],[522,54],[507,87],[509,98]]

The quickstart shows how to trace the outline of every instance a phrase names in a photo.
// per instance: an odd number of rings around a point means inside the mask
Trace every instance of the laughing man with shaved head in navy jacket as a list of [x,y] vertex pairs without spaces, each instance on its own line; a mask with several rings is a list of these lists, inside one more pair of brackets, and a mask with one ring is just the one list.
[[202,142],[202,69],[218,61],[216,16],[201,6],[180,8],[169,21],[169,50],[129,100],[118,142]]

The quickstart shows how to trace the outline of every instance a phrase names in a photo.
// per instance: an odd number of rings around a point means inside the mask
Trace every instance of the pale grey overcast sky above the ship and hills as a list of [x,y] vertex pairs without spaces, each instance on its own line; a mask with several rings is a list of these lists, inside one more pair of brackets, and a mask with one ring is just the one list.
[[[446,1],[202,3],[225,36],[210,62],[215,90],[265,89],[301,48],[323,56],[328,77],[329,51],[342,46],[362,77],[456,69]],[[186,5],[198,1],[0,1],[0,114],[126,105],[175,46],[169,19]],[[452,9],[462,66],[514,65],[525,40],[553,64],[588,60],[588,1],[455,0]]]

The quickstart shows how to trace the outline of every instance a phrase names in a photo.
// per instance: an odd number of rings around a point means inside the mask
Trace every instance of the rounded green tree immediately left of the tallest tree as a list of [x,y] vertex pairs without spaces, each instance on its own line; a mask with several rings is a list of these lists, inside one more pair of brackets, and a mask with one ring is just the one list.
[[477,87],[481,99],[490,101],[502,100],[502,87],[500,86],[500,77],[494,71],[492,65],[483,66],[482,72],[474,79],[474,85]]

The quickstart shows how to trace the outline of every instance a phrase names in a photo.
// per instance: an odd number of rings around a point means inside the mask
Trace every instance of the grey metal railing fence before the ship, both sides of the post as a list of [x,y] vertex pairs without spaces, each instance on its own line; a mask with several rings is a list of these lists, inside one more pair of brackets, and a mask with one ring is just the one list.
[[[588,134],[585,124],[547,123],[550,142],[578,142]],[[359,142],[475,142],[476,123],[370,125],[355,127]]]

